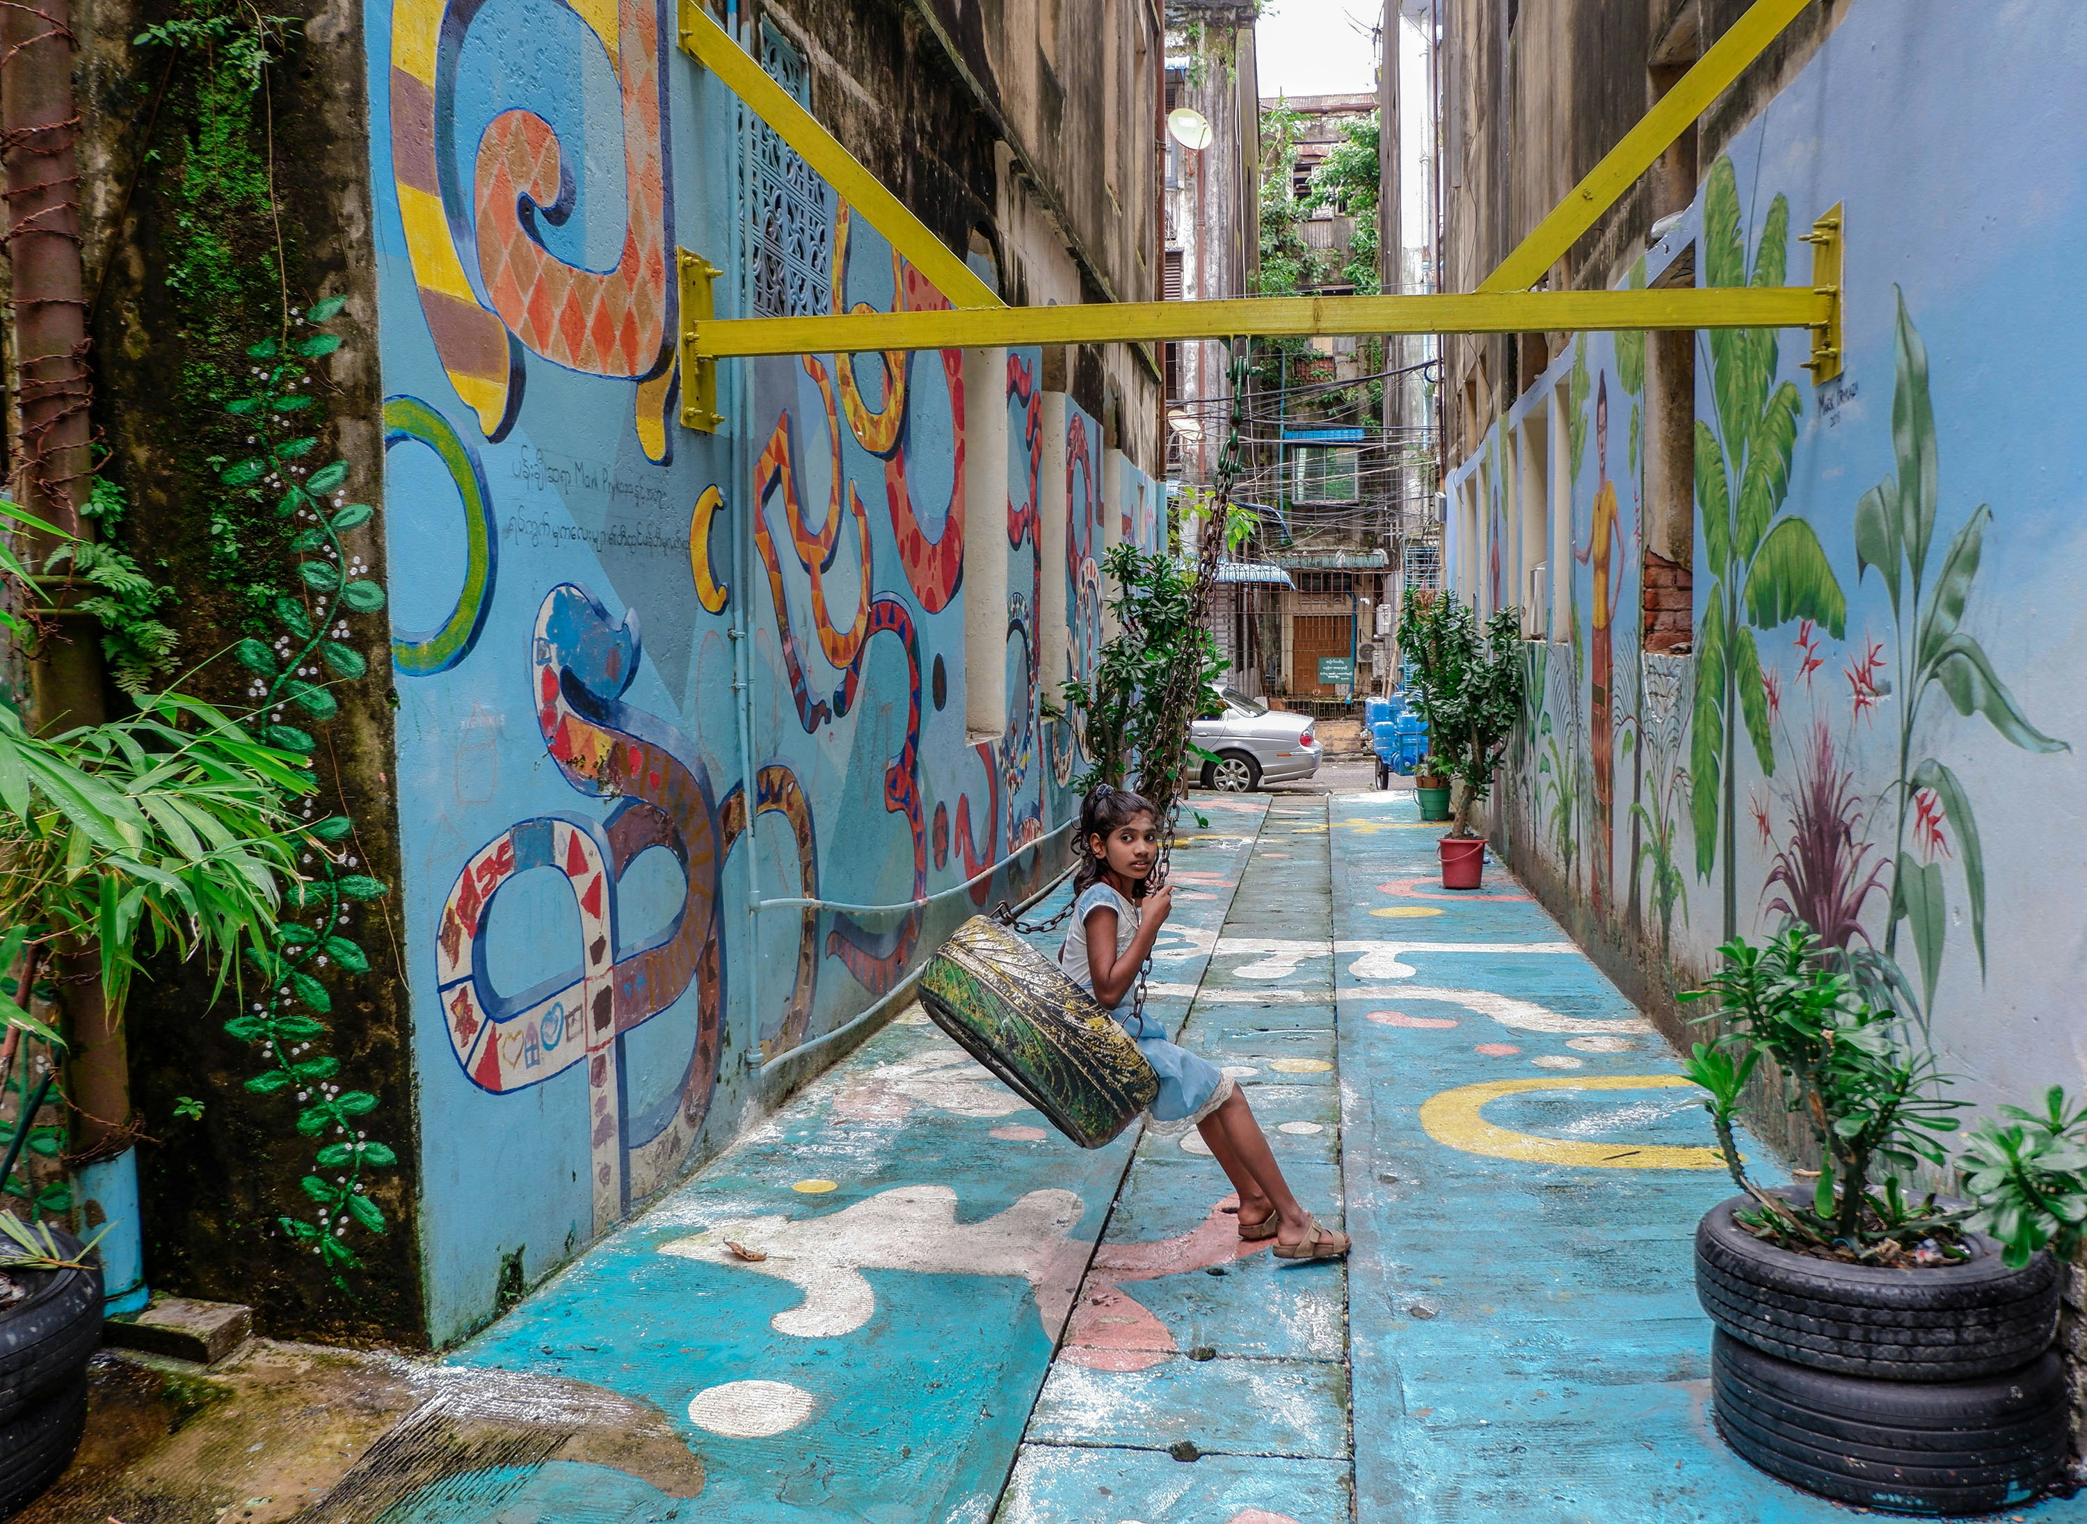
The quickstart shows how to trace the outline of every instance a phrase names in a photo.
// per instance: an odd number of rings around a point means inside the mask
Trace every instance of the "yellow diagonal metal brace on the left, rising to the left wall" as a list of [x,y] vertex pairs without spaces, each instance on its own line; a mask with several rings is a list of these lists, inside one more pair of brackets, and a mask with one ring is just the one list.
[[906,211],[906,203],[885,190],[868,169],[839,140],[818,125],[810,111],[755,63],[733,35],[712,21],[703,0],[680,0],[680,46],[697,63],[710,69],[735,96],[747,102],[755,117],[766,121],[774,134],[797,150],[797,157],[812,165],[812,171],[877,232],[891,240],[922,276],[935,282],[935,290],[956,307],[1004,307],[964,259],[950,251],[927,223]]

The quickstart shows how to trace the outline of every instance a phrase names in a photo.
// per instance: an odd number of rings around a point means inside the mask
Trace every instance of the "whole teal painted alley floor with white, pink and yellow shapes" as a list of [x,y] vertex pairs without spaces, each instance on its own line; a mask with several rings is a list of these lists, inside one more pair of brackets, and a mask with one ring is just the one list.
[[[394,1361],[315,1501],[278,1478],[215,1518],[1845,1518],[1713,1432],[1690,1236],[1730,1186],[1651,1025],[1498,864],[1444,891],[1411,793],[1196,804],[1150,1008],[1346,1265],[1240,1242],[1194,1132],[1075,1148],[914,1008],[440,1367]],[[186,1434],[215,1466],[296,1453],[213,1422]]]

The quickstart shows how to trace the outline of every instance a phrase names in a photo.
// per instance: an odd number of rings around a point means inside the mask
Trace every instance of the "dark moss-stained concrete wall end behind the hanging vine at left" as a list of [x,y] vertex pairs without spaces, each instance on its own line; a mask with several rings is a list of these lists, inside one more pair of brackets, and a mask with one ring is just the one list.
[[[344,459],[342,491],[376,501],[384,459],[359,8],[315,0],[275,13],[298,25],[286,56],[265,71],[267,88],[248,90],[221,50],[134,42],[150,25],[192,17],[188,8],[75,6],[102,476],[131,499],[125,541],[179,593],[165,614],[182,641],[175,672],[232,712],[253,706],[253,672],[225,647],[242,635],[273,639],[267,601],[303,597],[290,547],[298,526],[273,501],[248,505],[219,484],[221,468],[250,449],[253,424],[225,411],[253,384],[246,347],[282,334],[286,307],[346,299],[332,324],[344,344],[313,365],[321,405],[301,413],[319,420],[311,461]],[[246,17],[232,25],[238,31]],[[269,211],[271,186],[280,215]],[[344,541],[365,576],[388,580],[376,522]],[[367,660],[367,674],[330,685],[338,716],[305,720],[319,735],[315,804],[319,814],[353,818],[344,854],[357,858],[355,871],[397,885],[388,630],[382,616],[342,618],[340,641]],[[426,1326],[411,1230],[417,1159],[401,902],[392,894],[357,904],[332,929],[371,967],[315,969],[330,1031],[301,1056],[338,1058],[334,1079],[376,1098],[365,1132],[399,1163],[371,1171],[367,1194],[390,1232],[357,1228],[359,1265],[338,1282],[309,1246],[284,1236],[282,1215],[313,1215],[301,1180],[332,1134],[296,1129],[303,1106],[288,1088],[244,1088],[269,1065],[223,1023],[267,994],[250,969],[244,992],[211,1004],[202,973],[163,967],[129,1006],[146,1271],[159,1290],[250,1303],[261,1332],[417,1342]],[[205,1102],[198,1119],[175,1113],[184,1096]]]

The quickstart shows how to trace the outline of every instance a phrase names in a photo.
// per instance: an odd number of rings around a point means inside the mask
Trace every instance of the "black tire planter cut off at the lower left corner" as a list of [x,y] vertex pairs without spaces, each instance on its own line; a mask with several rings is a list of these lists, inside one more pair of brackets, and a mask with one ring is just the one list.
[[[52,1234],[67,1253],[79,1240]],[[102,1271],[15,1269],[29,1294],[0,1307],[0,1518],[73,1459],[88,1422],[88,1359],[102,1340]]]

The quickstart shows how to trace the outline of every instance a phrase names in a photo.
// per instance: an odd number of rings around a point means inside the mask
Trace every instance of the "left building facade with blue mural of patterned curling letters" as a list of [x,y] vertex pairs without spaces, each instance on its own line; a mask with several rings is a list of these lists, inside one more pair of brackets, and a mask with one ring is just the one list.
[[[1152,6],[712,15],[1010,303],[1158,296]],[[718,418],[685,426],[691,255],[722,317],[947,301],[680,25],[664,0],[390,0],[292,44],[328,109],[284,129],[317,175],[290,328],[346,299],[323,434],[376,507],[349,572],[382,587],[380,614],[340,610],[369,672],[338,777],[321,760],[382,894],[355,908],[369,971],[319,981],[326,1084],[397,1152],[369,1184],[388,1232],[342,1223],[353,1326],[273,1225],[311,1169],[288,1096],[227,1073],[188,1157],[146,1163],[154,1282],[273,1278],[275,1330],[486,1324],[895,1013],[964,916],[1048,883],[1083,762],[1046,699],[1092,668],[1104,549],[1165,543],[1140,347],[726,361]],[[98,13],[102,56],[140,27]],[[175,194],[148,177],[146,223]],[[184,478],[138,357],[182,336],[148,232],[102,349],[131,367],[106,390],[140,526],[171,547]],[[207,653],[242,614],[213,630],[209,562],[173,570]],[[152,1104],[165,1042],[140,1040]],[[196,1251],[209,1219],[248,1263]]]

